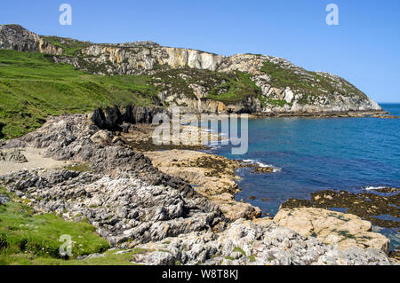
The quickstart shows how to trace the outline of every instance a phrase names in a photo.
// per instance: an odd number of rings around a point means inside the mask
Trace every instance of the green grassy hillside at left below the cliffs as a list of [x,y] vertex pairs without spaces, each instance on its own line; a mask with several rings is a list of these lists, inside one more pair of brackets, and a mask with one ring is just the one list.
[[0,50],[0,138],[35,130],[48,115],[151,105],[156,88],[148,81],[145,75],[88,75],[40,53]]

